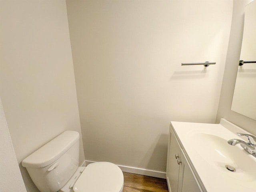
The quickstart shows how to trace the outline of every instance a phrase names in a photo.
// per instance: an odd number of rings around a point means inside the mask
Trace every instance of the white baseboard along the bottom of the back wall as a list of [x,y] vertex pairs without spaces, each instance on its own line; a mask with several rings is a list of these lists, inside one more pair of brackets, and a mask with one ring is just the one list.
[[[85,160],[84,163],[87,166],[90,163],[95,163],[95,161]],[[142,168],[137,168],[137,167],[129,167],[129,166],[123,166],[123,165],[117,165],[117,166],[120,167],[120,169],[123,172],[128,172],[128,173],[134,173],[134,174],[139,174],[139,175],[146,175],[146,176],[166,179],[166,172],[142,169]]]

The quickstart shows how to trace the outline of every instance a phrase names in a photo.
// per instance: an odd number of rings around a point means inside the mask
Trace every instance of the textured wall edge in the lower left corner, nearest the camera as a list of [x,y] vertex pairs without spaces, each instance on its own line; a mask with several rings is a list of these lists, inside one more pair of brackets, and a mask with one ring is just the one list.
[[0,100],[0,191],[26,192]]

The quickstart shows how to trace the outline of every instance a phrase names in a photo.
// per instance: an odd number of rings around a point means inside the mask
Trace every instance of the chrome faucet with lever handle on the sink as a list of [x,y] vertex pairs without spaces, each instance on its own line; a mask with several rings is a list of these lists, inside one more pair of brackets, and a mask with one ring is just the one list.
[[235,146],[240,144],[244,150],[250,153],[252,156],[256,157],[256,137],[250,134],[236,133],[238,136],[246,136],[248,138],[248,143],[240,139],[230,139],[228,144]]

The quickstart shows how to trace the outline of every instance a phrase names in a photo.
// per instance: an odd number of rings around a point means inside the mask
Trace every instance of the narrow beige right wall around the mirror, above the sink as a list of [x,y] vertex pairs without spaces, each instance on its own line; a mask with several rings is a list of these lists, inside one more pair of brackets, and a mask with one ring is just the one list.
[[244,6],[249,4],[251,1],[252,0],[234,0],[230,39],[216,122],[220,122],[220,118],[225,118],[226,120],[244,128],[248,132],[256,134],[256,120],[231,110],[236,73],[238,70],[238,61],[242,46]]

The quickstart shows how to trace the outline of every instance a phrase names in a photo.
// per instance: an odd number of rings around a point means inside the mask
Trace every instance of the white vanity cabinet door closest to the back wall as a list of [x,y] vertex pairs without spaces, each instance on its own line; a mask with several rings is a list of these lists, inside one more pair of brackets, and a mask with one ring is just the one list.
[[170,151],[169,151],[169,166],[167,180],[170,192],[177,192],[178,190],[178,178],[179,178],[179,165],[177,163],[176,156],[180,156],[180,146],[176,140],[176,137],[170,132]]

